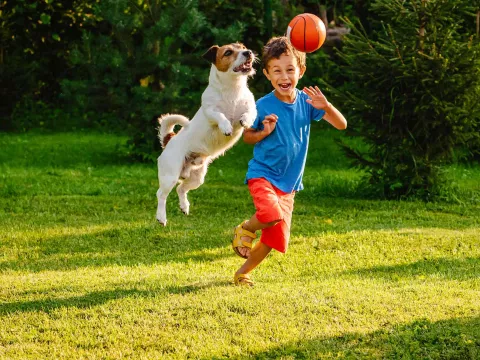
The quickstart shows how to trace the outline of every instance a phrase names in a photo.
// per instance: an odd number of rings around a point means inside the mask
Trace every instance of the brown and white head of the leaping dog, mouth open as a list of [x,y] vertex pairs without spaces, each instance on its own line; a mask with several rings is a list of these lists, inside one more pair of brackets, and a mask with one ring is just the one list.
[[235,75],[253,75],[255,54],[243,44],[233,43],[224,46],[214,45],[203,54],[218,71],[231,72]]

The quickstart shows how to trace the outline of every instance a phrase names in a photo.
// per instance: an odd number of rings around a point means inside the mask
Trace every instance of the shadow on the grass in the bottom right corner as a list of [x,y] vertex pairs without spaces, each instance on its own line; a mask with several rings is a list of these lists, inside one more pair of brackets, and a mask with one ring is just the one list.
[[480,358],[480,318],[416,320],[368,334],[351,333],[283,344],[234,359]]

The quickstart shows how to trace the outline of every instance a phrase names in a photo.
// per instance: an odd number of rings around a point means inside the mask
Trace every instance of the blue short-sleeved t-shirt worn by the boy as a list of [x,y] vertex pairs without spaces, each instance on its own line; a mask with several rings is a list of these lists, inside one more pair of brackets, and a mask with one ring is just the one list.
[[263,177],[287,193],[303,189],[310,122],[320,120],[325,111],[308,104],[309,97],[303,91],[295,91],[293,104],[279,100],[273,91],[257,100],[257,118],[252,128],[262,130],[262,121],[270,114],[276,114],[278,120],[273,132],[255,144],[245,183]]

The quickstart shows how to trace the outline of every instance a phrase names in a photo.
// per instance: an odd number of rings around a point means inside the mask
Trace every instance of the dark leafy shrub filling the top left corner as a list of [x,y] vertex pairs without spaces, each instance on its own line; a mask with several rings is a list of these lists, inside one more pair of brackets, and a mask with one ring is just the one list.
[[11,116],[18,105],[56,102],[70,46],[87,26],[91,7],[86,0],[0,3],[0,130],[22,128]]

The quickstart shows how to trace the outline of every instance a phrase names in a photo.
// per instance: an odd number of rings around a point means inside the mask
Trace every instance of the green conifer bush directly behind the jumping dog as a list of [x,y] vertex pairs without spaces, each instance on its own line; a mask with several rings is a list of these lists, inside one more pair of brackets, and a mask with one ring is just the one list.
[[85,31],[74,46],[74,74],[62,81],[62,97],[78,109],[114,114],[131,134],[132,155],[152,159],[156,117],[193,116],[198,105],[208,71],[199,48],[206,19],[188,0],[102,2],[94,17],[102,19],[103,31]]

